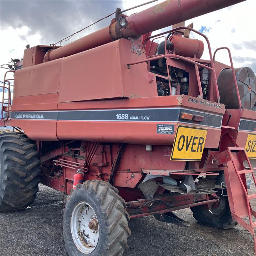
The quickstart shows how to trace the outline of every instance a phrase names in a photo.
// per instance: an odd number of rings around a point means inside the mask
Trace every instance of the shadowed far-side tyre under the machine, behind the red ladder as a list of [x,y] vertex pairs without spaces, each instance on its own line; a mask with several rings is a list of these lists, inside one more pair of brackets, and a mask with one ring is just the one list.
[[215,228],[228,229],[237,225],[237,222],[233,220],[228,204],[228,196],[223,196],[221,191],[220,201],[217,204],[212,205],[212,209],[208,210],[205,205],[199,205],[191,207],[193,217],[197,220],[197,223]]

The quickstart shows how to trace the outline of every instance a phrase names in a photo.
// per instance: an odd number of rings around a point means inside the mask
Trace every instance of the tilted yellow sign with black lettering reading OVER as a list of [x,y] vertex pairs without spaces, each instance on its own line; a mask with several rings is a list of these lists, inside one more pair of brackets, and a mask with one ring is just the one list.
[[207,129],[179,125],[172,147],[171,160],[200,161]]

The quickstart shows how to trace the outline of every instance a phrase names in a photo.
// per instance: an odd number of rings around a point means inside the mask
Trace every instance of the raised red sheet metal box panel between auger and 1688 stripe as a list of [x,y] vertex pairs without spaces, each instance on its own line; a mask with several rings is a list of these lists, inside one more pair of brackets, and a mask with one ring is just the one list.
[[127,68],[129,61],[145,59],[144,53],[131,53],[130,44],[120,39],[64,58],[59,102],[157,96],[146,63]]

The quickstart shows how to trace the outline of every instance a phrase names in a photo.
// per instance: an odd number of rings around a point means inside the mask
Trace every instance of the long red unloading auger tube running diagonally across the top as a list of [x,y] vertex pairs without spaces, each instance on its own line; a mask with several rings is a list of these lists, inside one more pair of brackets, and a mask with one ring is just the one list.
[[56,60],[94,47],[110,43],[116,39],[139,37],[157,29],[165,28],[181,21],[217,11],[244,0],[167,0],[142,12],[126,17],[126,25],[120,27],[115,19],[105,28],[90,35],[49,51],[45,60]]

